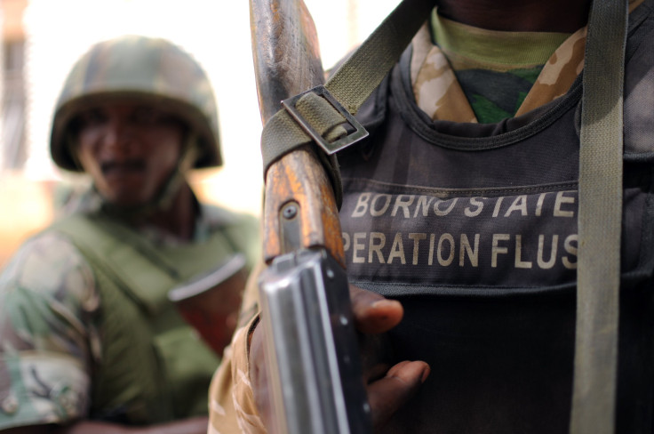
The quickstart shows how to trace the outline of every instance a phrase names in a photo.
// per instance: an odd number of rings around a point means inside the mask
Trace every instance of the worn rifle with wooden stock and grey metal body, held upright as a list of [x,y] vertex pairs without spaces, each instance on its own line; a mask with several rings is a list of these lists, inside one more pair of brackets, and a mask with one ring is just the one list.
[[[315,25],[302,0],[250,0],[264,125],[280,101],[323,84]],[[371,432],[349,300],[339,213],[311,146],[266,173],[261,325],[278,433]]]

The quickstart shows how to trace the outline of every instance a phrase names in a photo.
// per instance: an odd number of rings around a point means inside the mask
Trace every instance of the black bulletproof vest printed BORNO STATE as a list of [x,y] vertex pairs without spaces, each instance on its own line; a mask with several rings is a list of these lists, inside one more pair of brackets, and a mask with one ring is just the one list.
[[[654,18],[630,16],[620,288],[618,433],[652,432]],[[384,432],[567,433],[577,269],[581,80],[497,125],[431,121],[411,50],[339,154],[351,281],[401,300],[395,361],[432,372]],[[602,254],[599,252],[598,254]]]

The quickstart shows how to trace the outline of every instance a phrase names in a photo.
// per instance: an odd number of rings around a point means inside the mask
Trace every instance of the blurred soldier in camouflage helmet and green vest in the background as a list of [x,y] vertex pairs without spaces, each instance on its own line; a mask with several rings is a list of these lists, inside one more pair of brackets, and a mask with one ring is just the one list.
[[[206,431],[220,354],[168,293],[226,261],[250,269],[259,249],[254,218],[199,203],[186,179],[222,164],[208,77],[164,39],[95,44],[68,75],[50,144],[92,189],[0,277],[0,430]],[[227,342],[242,288],[220,295]]]

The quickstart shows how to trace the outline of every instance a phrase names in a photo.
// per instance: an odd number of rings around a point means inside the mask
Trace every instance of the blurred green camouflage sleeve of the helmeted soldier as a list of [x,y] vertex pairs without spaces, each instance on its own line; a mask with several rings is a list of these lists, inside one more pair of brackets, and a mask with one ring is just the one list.
[[0,430],[87,413],[99,300],[67,238],[46,233],[14,255],[0,275]]

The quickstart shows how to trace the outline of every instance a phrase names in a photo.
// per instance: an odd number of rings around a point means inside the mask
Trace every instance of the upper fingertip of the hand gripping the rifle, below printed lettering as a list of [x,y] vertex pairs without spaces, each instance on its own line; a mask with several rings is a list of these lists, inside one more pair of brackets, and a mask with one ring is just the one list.
[[404,313],[399,301],[388,300],[355,285],[350,285],[350,299],[356,328],[364,334],[387,332],[399,324]]

